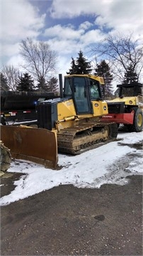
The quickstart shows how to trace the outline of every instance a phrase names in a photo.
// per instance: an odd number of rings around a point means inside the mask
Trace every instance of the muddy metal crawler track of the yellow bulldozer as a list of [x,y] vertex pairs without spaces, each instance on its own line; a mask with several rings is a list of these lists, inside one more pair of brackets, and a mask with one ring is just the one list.
[[58,151],[72,155],[81,154],[89,149],[113,142],[117,134],[118,127],[115,123],[81,123],[58,132]]

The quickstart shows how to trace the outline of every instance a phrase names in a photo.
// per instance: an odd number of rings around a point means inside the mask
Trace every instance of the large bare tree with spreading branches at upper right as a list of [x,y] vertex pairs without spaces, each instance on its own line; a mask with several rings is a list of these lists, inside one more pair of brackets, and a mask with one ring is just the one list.
[[129,66],[132,66],[132,72],[137,73],[138,80],[141,79],[143,68],[143,46],[139,39],[135,40],[133,34],[123,36],[109,35],[103,41],[98,43],[92,52],[96,58],[110,61],[110,68],[115,78],[122,82]]

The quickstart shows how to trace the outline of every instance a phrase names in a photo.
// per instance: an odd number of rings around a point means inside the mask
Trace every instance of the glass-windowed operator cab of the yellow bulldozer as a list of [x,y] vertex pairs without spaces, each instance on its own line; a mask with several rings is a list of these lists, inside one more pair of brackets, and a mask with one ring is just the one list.
[[64,97],[71,97],[77,114],[93,113],[91,101],[101,100],[98,80],[87,76],[71,75],[64,78]]

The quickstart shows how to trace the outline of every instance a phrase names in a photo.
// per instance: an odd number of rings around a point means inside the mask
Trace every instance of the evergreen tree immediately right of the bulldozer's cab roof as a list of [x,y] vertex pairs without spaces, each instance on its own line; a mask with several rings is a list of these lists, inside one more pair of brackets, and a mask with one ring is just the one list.
[[110,74],[110,67],[105,60],[102,60],[100,64],[97,65],[95,75],[101,76],[104,79],[104,87],[103,87],[103,96],[110,97],[113,95],[113,86],[111,82],[113,80],[113,75]]

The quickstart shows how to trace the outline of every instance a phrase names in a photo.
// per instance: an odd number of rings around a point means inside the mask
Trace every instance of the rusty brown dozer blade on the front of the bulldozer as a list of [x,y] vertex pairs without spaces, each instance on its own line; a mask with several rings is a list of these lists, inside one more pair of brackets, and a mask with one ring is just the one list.
[[11,150],[11,156],[56,169],[57,135],[47,129],[1,126],[1,140]]

